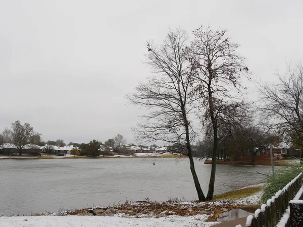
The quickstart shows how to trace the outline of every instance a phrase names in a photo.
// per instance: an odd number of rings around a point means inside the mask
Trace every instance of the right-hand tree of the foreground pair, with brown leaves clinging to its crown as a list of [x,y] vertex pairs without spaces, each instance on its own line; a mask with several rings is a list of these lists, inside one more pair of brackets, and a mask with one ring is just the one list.
[[216,158],[218,148],[218,119],[228,101],[240,92],[240,76],[248,71],[244,58],[236,53],[238,44],[225,35],[226,30],[213,31],[209,27],[196,29],[194,41],[188,48],[188,60],[195,71],[191,85],[200,97],[203,122],[210,121],[213,128],[213,161],[207,200],[214,194]]

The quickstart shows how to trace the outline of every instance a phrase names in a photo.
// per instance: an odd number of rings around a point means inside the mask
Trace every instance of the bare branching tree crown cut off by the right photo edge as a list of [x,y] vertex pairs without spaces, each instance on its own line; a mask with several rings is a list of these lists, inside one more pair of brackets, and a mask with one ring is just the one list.
[[268,126],[285,141],[303,145],[303,66],[287,65],[278,83],[259,83],[261,110]]

